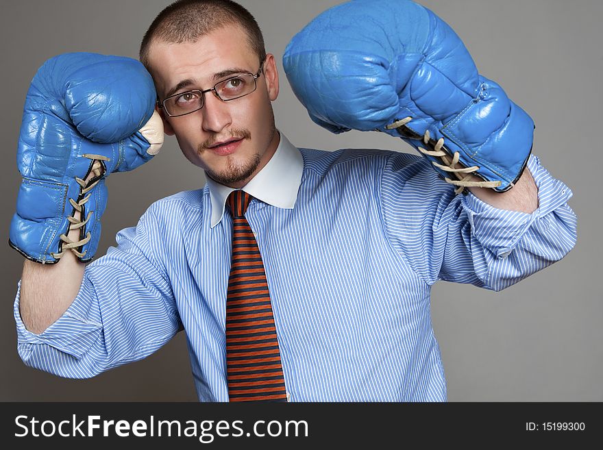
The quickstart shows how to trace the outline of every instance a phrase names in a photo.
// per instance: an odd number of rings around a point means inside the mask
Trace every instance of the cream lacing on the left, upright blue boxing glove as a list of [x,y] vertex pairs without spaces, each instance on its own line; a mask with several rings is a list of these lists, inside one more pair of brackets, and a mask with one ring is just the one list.
[[[87,192],[92,190],[98,184],[98,182],[101,181],[101,175],[103,175],[104,173],[104,166],[101,161],[109,161],[109,158],[103,155],[84,153],[82,156],[84,158],[88,158],[89,160],[93,160],[92,167],[90,168],[90,175],[92,175],[91,179],[94,179],[95,181],[86,186],[86,182],[83,179],[75,177],[75,181],[81,187],[81,189],[79,190],[79,197],[82,197],[82,195],[85,195]],[[86,202],[88,202],[88,199],[90,199],[90,195],[92,195],[92,192],[90,192],[90,194],[86,195],[86,197],[84,197],[80,201],[69,199],[69,203],[71,203],[71,206],[73,206],[73,208],[81,214],[82,206],[85,205]],[[88,221],[90,220],[90,217],[92,217],[93,212],[94,211],[88,212],[88,216],[86,216],[86,220],[84,221],[82,221],[81,218],[77,219],[73,216],[67,217],[67,220],[69,221],[69,223],[71,223],[71,225],[69,225],[69,228],[67,229],[67,232],[65,234],[61,234],[59,236],[63,241],[62,251],[60,253],[51,253],[53,258],[59,260],[67,250],[73,251],[73,253],[75,253],[78,258],[82,258],[84,255],[86,255],[86,251],[80,252],[77,251],[77,249],[79,247],[82,247],[82,245],[88,243],[91,238],[90,232],[86,233],[86,237],[84,239],[77,241],[69,239],[67,235],[69,234],[69,232],[71,232],[72,229],[79,229],[84,227],[84,225],[86,225],[86,223],[88,223]]]

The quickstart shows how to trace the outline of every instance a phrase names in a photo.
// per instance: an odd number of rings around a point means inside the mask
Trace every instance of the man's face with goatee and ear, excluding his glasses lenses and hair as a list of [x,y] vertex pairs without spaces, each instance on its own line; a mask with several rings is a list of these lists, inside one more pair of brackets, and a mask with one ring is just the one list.
[[[234,75],[255,74],[260,62],[243,29],[226,25],[197,42],[153,42],[149,65],[163,100],[179,84],[182,87],[171,93],[206,90]],[[175,134],[186,158],[233,188],[245,186],[267,164],[279,142],[271,105],[278,96],[273,55],[267,55],[256,84],[254,92],[231,101],[206,92],[203,108],[186,116],[169,117],[161,111],[166,133]]]

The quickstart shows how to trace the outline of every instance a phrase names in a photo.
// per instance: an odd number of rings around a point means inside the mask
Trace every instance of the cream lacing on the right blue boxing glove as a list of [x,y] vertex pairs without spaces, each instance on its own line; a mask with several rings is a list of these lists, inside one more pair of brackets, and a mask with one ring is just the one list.
[[[399,121],[395,121],[390,125],[386,125],[386,129],[401,129],[408,122],[412,121],[412,117],[405,117]],[[398,130],[400,132],[400,130]],[[407,136],[406,133],[400,132],[406,138],[413,139],[410,136]],[[420,135],[419,135],[420,136]],[[425,130],[425,134],[423,134],[422,138],[423,143],[426,145],[430,145],[430,134],[429,130]],[[479,166],[471,166],[471,167],[456,167],[458,163],[458,159],[460,155],[458,151],[454,152],[452,156],[452,160],[450,159],[450,155],[442,150],[444,146],[444,138],[439,138],[439,140],[433,145],[433,150],[423,149],[422,147],[418,147],[419,151],[423,153],[423,155],[434,156],[436,158],[440,158],[444,164],[439,164],[437,162],[432,161],[432,164],[437,168],[440,168],[443,171],[454,173],[458,179],[450,179],[448,177],[444,177],[445,182],[450,183],[454,186],[458,186],[455,190],[455,194],[460,194],[465,190],[465,188],[478,187],[478,188],[497,188],[502,183],[501,182],[477,182],[477,181],[469,181],[471,178],[471,173],[480,170]]]

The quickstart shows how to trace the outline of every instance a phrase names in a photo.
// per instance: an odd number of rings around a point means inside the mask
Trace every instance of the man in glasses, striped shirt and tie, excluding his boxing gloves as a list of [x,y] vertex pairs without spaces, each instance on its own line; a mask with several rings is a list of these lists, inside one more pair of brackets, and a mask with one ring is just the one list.
[[[51,266],[26,261],[15,317],[27,364],[93,376],[184,327],[202,401],[441,401],[432,284],[499,290],[574,245],[569,190],[536,158],[508,192],[463,196],[411,155],[293,147],[275,129],[274,57],[232,2],[167,8],[141,60],[165,132],[208,185],[151,205],[85,270],[71,251]],[[93,188],[99,175],[84,175]],[[261,264],[241,281],[246,252]],[[256,301],[236,303],[242,285]]]

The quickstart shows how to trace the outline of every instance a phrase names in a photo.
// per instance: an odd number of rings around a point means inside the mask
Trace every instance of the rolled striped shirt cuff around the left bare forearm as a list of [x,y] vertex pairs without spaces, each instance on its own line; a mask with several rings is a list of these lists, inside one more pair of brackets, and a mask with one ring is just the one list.
[[[86,278],[82,283],[86,283]],[[82,289],[80,289],[69,309],[40,334],[32,333],[25,328],[25,324],[21,319],[21,312],[19,312],[20,297],[21,281],[17,285],[13,308],[17,343],[21,350],[32,350],[34,345],[48,345],[75,358],[81,358],[101,334],[101,323],[87,318],[97,303],[92,296],[82,292]]]

